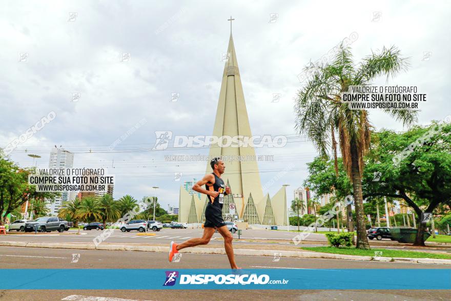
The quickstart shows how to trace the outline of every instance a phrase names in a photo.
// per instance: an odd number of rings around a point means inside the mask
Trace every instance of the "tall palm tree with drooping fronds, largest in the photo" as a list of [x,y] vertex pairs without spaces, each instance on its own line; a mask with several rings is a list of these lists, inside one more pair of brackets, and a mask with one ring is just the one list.
[[[371,124],[366,110],[350,110],[341,101],[341,93],[350,86],[370,85],[380,75],[394,76],[405,70],[408,59],[401,57],[400,51],[391,47],[380,53],[372,53],[363,62],[354,66],[350,47],[341,47],[331,63],[306,67],[312,78],[298,91],[296,100],[296,129],[308,135],[320,155],[327,156],[335,145],[335,131],[344,167],[353,185],[357,217],[357,244],[359,249],[369,249],[365,231],[361,178],[363,155],[370,145]],[[386,113],[410,125],[416,121],[416,111],[391,110]],[[331,138],[333,141],[331,143]],[[336,150],[334,149],[334,154]]]

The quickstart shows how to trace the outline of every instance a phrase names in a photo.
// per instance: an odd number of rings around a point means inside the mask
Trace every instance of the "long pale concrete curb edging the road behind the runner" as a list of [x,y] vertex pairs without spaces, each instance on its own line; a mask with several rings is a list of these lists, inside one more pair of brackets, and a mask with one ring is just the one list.
[[[29,247],[29,248],[53,248],[53,249],[79,249],[79,250],[103,250],[103,251],[140,251],[140,252],[169,252],[169,247],[161,246],[126,246],[126,245],[90,245],[90,244],[61,244],[61,243],[27,243],[27,242],[0,242],[1,247]],[[248,256],[278,256],[291,258],[325,258],[325,259],[345,259],[345,260],[369,260],[378,262],[400,262],[418,264],[441,264],[451,265],[451,259],[432,258],[402,258],[402,257],[374,257],[356,256],[320,252],[300,252],[300,251],[277,251],[277,250],[254,250],[235,249],[235,255]],[[182,250],[180,253],[191,254],[226,254],[223,248],[190,248]]]

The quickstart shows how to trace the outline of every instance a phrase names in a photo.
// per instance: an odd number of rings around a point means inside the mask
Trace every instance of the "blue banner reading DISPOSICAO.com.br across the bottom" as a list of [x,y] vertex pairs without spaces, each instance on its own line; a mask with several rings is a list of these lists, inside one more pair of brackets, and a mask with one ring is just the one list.
[[451,269],[0,269],[0,290],[443,290]]

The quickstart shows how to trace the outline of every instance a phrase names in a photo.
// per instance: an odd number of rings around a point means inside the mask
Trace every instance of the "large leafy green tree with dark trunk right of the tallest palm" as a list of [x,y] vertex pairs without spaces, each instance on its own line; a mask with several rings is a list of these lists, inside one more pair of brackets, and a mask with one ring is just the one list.
[[[396,154],[416,142],[414,151],[397,159]],[[416,246],[424,246],[426,225],[420,223],[421,214],[451,204],[450,150],[451,124],[433,122],[430,127],[415,126],[404,133],[382,130],[367,155],[364,197],[402,198],[412,207],[418,226]],[[372,180],[374,172],[381,173],[377,182]]]

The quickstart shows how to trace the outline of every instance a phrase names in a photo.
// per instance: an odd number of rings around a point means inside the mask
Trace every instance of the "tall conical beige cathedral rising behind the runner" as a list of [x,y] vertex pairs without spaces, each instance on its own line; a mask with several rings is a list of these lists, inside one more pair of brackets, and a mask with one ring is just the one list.
[[[252,137],[249,116],[244,102],[232,33],[229,47],[224,53],[224,71],[216,109],[213,136],[241,137],[243,141]],[[194,112],[193,112],[194,113]],[[232,139],[233,140],[233,139]],[[270,198],[263,194],[255,150],[248,144],[223,146],[222,140],[212,143],[210,157],[223,157],[226,172],[222,175],[224,184],[232,193],[224,196],[222,216],[224,219],[243,219],[249,224],[288,225],[285,187],[281,187]],[[227,159],[229,158],[229,159]],[[210,162],[206,173],[211,173]],[[190,195],[180,186],[178,221],[183,223],[202,223],[204,211],[209,202],[206,195]],[[233,204],[233,205],[232,205]]]

